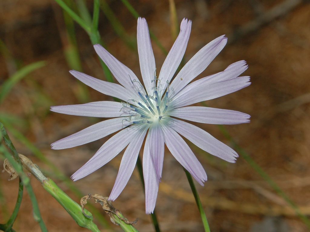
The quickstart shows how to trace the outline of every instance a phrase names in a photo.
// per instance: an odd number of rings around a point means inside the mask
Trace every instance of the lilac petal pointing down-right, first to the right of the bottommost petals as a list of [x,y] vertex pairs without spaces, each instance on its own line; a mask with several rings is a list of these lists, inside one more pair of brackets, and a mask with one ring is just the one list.
[[203,186],[203,182],[207,180],[207,174],[191,148],[173,128],[163,126],[162,131],[165,144],[171,154]]

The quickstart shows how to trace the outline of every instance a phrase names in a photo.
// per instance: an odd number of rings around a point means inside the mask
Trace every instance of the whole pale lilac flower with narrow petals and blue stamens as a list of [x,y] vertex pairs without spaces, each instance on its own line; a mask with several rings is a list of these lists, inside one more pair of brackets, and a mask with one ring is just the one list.
[[239,77],[247,69],[245,61],[235,62],[222,72],[190,83],[224,48],[226,37],[220,36],[205,45],[172,80],[184,56],[191,24],[191,20],[183,19],[179,36],[170,49],[157,78],[148,25],[144,18],[138,19],[138,53],[144,86],[128,67],[99,44],[94,45],[95,51],[120,84],[99,80],[78,71],[70,71],[74,77],[91,88],[124,101],[97,101],[81,105],[51,107],[51,111],[62,114],[112,118],[56,141],[51,144],[53,149],[76,147],[119,131],[72,175],[71,178],[74,181],[99,169],[128,145],[109,196],[110,200],[115,200],[134,170],[146,136],[143,149],[145,205],[146,213],[152,213],[162,177],[164,144],[201,185],[207,180],[206,172],[180,135],[212,155],[228,162],[235,162],[238,154],[232,148],[201,128],[177,119],[210,124],[238,124],[250,121],[250,115],[238,111],[188,106],[224,96],[250,85],[250,77]]

